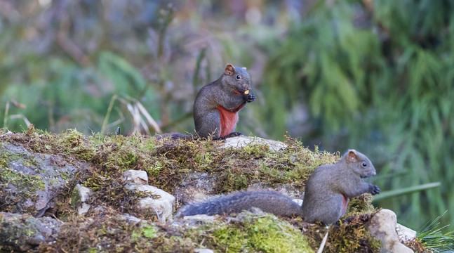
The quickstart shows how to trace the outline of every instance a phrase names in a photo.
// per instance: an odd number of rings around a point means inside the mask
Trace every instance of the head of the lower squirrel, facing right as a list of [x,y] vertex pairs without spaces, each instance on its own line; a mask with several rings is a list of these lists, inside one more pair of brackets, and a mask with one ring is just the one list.
[[342,159],[345,160],[347,167],[361,176],[361,179],[376,174],[375,168],[369,158],[356,150],[348,150],[347,153],[342,156]]

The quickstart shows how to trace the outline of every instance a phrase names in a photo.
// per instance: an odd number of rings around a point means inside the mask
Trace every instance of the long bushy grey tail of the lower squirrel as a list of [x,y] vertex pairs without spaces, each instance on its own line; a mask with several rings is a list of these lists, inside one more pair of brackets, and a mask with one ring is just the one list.
[[201,202],[185,205],[177,217],[196,214],[231,214],[257,207],[263,212],[279,216],[302,215],[301,207],[290,197],[274,191],[239,191],[228,195],[209,197]]

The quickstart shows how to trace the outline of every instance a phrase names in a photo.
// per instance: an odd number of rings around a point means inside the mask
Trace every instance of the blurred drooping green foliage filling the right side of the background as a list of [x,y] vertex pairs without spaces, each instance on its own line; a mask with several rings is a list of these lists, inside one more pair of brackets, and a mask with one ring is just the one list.
[[[270,51],[259,115],[285,131],[283,111],[309,111],[303,143],[363,150],[384,189],[441,181],[441,190],[382,200],[409,226],[454,215],[454,2],[319,1]],[[359,9],[359,8],[362,8]],[[361,20],[368,20],[361,22]],[[286,101],[286,103],[283,103]],[[314,138],[315,137],[315,138]],[[313,138],[313,139],[312,139]],[[307,140],[307,141],[305,141]],[[400,208],[397,208],[400,207]]]

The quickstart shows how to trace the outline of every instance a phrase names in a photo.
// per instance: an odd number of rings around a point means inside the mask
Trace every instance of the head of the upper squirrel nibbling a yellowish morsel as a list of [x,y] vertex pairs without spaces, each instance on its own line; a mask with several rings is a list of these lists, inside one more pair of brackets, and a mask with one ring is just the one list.
[[249,77],[246,67],[234,67],[232,64],[227,64],[222,75],[222,84],[227,91],[247,94],[251,89],[251,77]]

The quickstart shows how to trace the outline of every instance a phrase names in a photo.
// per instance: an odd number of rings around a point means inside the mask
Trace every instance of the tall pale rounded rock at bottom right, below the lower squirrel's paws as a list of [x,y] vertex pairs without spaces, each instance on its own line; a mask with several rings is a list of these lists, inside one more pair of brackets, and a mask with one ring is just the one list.
[[382,209],[370,219],[368,231],[375,239],[382,241],[380,252],[413,253],[413,250],[400,242],[396,224],[396,214],[389,209]]

